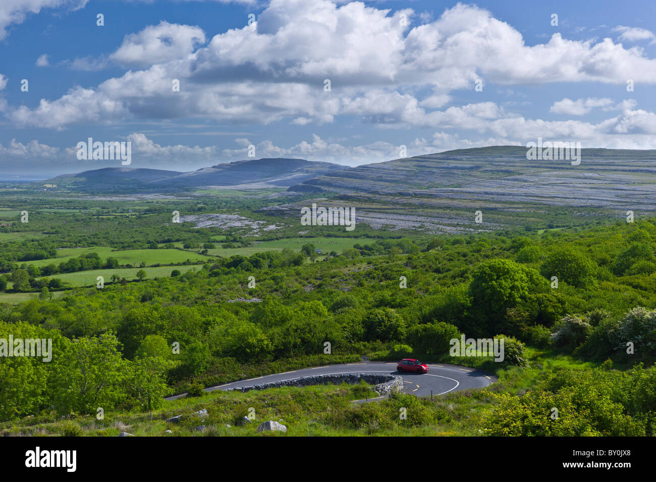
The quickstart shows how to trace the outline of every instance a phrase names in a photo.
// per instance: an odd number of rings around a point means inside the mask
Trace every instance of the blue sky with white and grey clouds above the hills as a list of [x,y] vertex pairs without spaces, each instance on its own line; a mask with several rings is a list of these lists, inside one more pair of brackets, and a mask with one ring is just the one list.
[[78,160],[89,137],[178,171],[251,145],[344,165],[537,137],[656,148],[656,3],[533,3],[4,0],[0,170],[120,166]]

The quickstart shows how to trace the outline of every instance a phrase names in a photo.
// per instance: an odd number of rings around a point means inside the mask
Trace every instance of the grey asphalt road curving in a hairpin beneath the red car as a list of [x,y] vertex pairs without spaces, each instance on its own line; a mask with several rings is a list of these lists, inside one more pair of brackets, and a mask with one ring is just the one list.
[[[333,375],[343,373],[375,373],[375,374],[394,374],[403,377],[403,392],[413,393],[419,397],[430,395],[442,395],[448,392],[457,392],[468,388],[483,388],[497,381],[497,377],[491,373],[482,370],[461,367],[459,365],[428,364],[428,373],[417,374],[396,371],[398,362],[394,361],[361,361],[357,363],[345,363],[343,365],[325,365],[323,367],[313,367],[307,369],[293,370],[274,375],[258,376],[258,378],[249,378],[248,380],[239,380],[238,382],[226,383],[215,387],[205,388],[205,392],[214,390],[227,390],[229,388],[244,388],[253,385],[281,382],[285,380],[295,380],[304,376],[312,375]],[[180,395],[167,397],[167,400],[180,398]],[[380,397],[382,398],[382,397]]]

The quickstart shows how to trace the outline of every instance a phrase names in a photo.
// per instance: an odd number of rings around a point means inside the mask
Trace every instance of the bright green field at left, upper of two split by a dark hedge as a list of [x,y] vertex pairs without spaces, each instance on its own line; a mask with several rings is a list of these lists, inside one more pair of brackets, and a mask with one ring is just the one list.
[[91,248],[58,249],[56,258],[27,261],[26,263],[33,264],[39,268],[51,263],[58,265],[67,262],[71,258],[77,258],[82,254],[88,254],[90,252],[97,252],[102,260],[111,256],[112,258],[116,258],[119,264],[134,265],[136,263],[136,266],[139,266],[142,262],[146,263],[147,266],[150,266],[153,264],[182,263],[188,259],[198,262],[204,262],[205,260],[210,259],[210,256],[198,254],[193,251],[180,251],[179,249],[127,249],[125,251],[113,251],[112,248],[98,246]]

